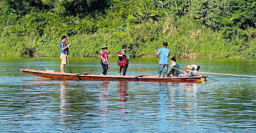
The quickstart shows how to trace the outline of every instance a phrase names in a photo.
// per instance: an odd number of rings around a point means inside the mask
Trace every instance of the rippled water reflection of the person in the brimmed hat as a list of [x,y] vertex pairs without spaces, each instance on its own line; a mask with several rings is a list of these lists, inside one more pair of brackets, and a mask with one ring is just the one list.
[[100,102],[102,104],[101,106],[101,113],[105,114],[108,111],[108,85],[109,81],[102,81],[100,88],[101,88],[101,93],[100,93]]

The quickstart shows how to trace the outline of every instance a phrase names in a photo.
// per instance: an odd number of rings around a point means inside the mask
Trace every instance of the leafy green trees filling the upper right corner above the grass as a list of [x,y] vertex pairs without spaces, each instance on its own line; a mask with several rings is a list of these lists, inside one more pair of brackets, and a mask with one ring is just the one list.
[[255,38],[255,0],[192,0],[190,13],[200,22],[221,30],[225,38]]

